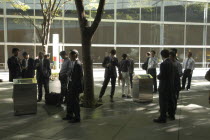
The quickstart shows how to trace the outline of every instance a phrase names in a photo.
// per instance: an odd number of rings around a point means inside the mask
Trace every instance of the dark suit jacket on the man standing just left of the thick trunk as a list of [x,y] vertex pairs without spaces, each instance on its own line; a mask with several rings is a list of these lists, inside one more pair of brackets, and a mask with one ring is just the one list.
[[71,76],[71,81],[69,84],[69,89],[76,91],[77,93],[82,93],[83,92],[83,68],[82,64],[79,60],[75,61],[74,68],[72,73],[70,74]]

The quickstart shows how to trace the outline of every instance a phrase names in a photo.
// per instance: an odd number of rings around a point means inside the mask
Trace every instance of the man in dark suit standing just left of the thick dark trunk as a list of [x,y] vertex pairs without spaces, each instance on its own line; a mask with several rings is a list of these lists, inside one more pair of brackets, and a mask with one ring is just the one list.
[[71,74],[68,84],[67,95],[67,114],[63,120],[69,120],[70,123],[80,122],[79,94],[83,92],[83,69],[78,59],[78,51],[71,50]]

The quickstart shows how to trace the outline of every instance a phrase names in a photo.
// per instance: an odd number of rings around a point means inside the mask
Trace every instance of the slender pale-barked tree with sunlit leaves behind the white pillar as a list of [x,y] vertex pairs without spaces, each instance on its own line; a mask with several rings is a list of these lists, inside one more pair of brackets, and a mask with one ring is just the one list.
[[[22,11],[27,11],[30,7],[19,0],[6,0],[10,2],[12,7],[15,9],[20,9]],[[19,13],[26,20],[28,20],[36,29],[39,40],[43,46],[43,52],[48,53],[48,44],[50,39],[50,29],[55,17],[61,14],[61,8],[71,0],[40,0],[41,12],[43,21],[40,26],[34,24],[33,19],[30,16],[25,16],[22,13]],[[40,29],[41,28],[41,29]],[[41,31],[40,31],[41,30]]]

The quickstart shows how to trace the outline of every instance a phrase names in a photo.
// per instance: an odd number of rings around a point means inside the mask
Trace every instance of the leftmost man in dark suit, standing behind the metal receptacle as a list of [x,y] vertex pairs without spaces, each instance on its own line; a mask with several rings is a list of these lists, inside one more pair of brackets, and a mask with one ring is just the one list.
[[9,81],[13,82],[13,79],[21,78],[22,69],[21,69],[21,60],[18,57],[20,50],[18,48],[12,49],[13,56],[10,57],[7,61],[9,68]]

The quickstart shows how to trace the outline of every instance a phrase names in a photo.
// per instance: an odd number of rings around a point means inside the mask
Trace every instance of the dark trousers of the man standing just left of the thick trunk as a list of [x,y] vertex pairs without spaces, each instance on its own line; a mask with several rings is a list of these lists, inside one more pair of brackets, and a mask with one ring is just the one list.
[[69,92],[67,94],[67,115],[66,117],[74,117],[80,120],[80,106],[79,106],[79,93],[69,83]]

